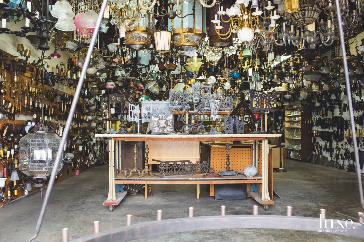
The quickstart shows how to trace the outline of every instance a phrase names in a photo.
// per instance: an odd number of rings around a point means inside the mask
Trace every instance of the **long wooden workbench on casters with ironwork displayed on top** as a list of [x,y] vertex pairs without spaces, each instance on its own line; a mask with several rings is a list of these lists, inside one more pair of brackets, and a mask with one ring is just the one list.
[[[162,140],[162,141],[241,141],[241,140],[252,140],[253,141],[253,157],[252,157],[252,165],[257,165],[258,161],[258,143],[257,141],[261,141],[261,149],[262,149],[262,174],[261,180],[257,180],[262,184],[262,192],[248,193],[251,197],[253,197],[260,204],[263,204],[267,209],[268,204],[274,204],[274,202],[269,197],[268,192],[268,138],[270,137],[279,137],[281,134],[229,134],[229,135],[178,135],[178,134],[166,134],[166,135],[149,135],[149,134],[96,134],[96,137],[107,138],[109,139],[109,193],[108,198],[104,202],[104,205],[110,204],[110,202],[116,202],[115,196],[115,183],[129,182],[132,180],[120,180],[115,179],[115,141],[153,141],[153,140]],[[119,175],[118,175],[119,176]],[[141,180],[135,179],[133,182],[148,182],[150,178],[148,175],[145,175]],[[225,179],[225,178],[224,178]],[[241,183],[249,183],[247,179],[240,179]],[[135,182],[138,181],[138,182]],[[150,180],[154,181],[154,180]],[[162,179],[155,180],[154,182],[161,182],[160,184],[166,184],[168,181],[177,182],[177,180],[171,179]],[[195,184],[203,184],[204,180],[194,181],[197,182]],[[215,181],[214,179],[210,182]],[[218,181],[218,180],[217,180]],[[239,181],[239,180],[235,180]],[[182,182],[182,180],[180,180]],[[186,180],[185,180],[186,182]],[[201,182],[201,183],[200,183]],[[206,180],[206,182],[209,182]],[[131,183],[131,182],[130,182]],[[238,182],[235,182],[238,183]],[[253,183],[253,182],[250,182]],[[140,184],[140,183],[139,183]],[[143,183],[149,184],[149,183]],[[177,184],[177,183],[174,183]],[[207,184],[207,183],[205,183]],[[210,183],[213,184],[213,183]]]

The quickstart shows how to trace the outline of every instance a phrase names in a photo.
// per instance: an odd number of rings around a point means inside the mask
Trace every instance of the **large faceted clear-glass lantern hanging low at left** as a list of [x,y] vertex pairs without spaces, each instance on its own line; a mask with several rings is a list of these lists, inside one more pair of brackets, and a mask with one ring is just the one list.
[[[51,176],[61,138],[52,127],[35,126],[19,140],[19,169],[33,182],[44,183]],[[63,151],[62,151],[63,160]],[[57,172],[63,167],[61,161]]]

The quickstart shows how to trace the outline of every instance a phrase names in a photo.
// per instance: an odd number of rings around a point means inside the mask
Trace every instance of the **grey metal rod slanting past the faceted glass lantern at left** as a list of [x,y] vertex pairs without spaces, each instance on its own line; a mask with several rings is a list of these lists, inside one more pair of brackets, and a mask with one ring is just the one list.
[[[98,36],[98,32],[99,32],[99,29],[100,29],[100,24],[101,24],[101,21],[102,21],[103,16],[104,16],[104,11],[106,9],[107,1],[108,0],[103,0],[102,1],[99,16],[98,16],[96,26],[95,26],[95,31],[94,31],[94,34],[92,35],[90,46],[88,47],[87,55],[86,55],[86,58],[85,58],[85,61],[84,61],[84,66],[88,66],[88,64],[90,63],[92,51],[94,50],[94,46],[95,46],[96,39],[97,39],[97,36]],[[86,70],[87,70],[87,68],[83,68],[82,71],[81,71],[81,77],[80,77],[80,79],[78,81],[78,85],[77,85],[77,88],[75,90],[75,96],[73,97],[73,100],[72,100],[70,112],[68,114],[66,126],[64,127],[64,133],[63,133],[61,143],[60,143],[59,148],[58,148],[56,160],[55,160],[54,165],[53,165],[53,169],[52,169],[51,177],[50,177],[50,180],[49,180],[49,183],[48,183],[48,188],[47,188],[47,191],[46,191],[46,195],[44,196],[42,208],[40,210],[37,225],[35,227],[35,234],[33,235],[33,237],[31,237],[28,240],[28,242],[32,242],[35,238],[37,238],[37,236],[39,234],[40,227],[41,227],[42,222],[43,222],[44,214],[46,213],[46,208],[47,208],[48,200],[49,200],[49,197],[50,197],[50,194],[51,194],[51,191],[52,191],[53,183],[54,183],[54,180],[55,180],[55,177],[56,177],[56,174],[57,174],[57,168],[58,168],[58,165],[59,165],[59,163],[61,162],[61,159],[62,159],[61,156],[62,156],[62,152],[63,152],[63,147],[64,147],[64,144],[66,143],[67,135],[68,135],[68,132],[70,131],[70,128],[71,128],[72,118],[73,118],[73,115],[75,113],[75,109],[76,109],[76,105],[77,105],[77,102],[78,102],[79,95],[81,93],[84,77],[86,75]]]

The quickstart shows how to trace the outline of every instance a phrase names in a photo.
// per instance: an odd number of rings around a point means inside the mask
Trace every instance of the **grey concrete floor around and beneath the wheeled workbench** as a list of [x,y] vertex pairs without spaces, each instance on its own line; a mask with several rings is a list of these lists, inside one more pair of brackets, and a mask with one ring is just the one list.
[[[327,210],[327,218],[357,221],[362,211],[356,173],[339,171],[320,165],[285,160],[287,172],[273,172],[273,184],[282,197],[274,197],[275,205],[265,211],[261,205],[259,214],[285,215],[286,206],[292,206],[293,216],[318,217],[320,208]],[[364,179],[363,179],[364,180]],[[201,186],[202,188],[202,186]],[[100,221],[100,230],[126,225],[126,215],[132,214],[132,223],[156,220],[157,210],[163,210],[163,219],[188,216],[188,208],[194,207],[194,216],[219,215],[220,206],[226,206],[226,215],[252,214],[252,198],[246,201],[215,201],[206,189],[201,189],[196,199],[195,185],[153,185],[154,195],[127,196],[109,212],[103,201],[108,193],[108,167],[95,167],[79,176],[71,177],[53,187],[50,202],[40,234],[35,241],[61,241],[61,230],[69,229],[74,239],[93,233],[93,221]],[[34,234],[41,202],[39,192],[15,200],[0,208],[0,241],[28,241]],[[163,235],[139,241],[350,241],[362,239],[292,230],[230,229],[197,231]]]

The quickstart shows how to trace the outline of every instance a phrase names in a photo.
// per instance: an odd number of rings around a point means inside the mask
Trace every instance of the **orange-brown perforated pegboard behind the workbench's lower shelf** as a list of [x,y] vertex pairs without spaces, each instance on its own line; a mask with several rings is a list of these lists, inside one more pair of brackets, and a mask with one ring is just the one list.
[[[262,149],[258,148],[258,173],[262,174]],[[270,157],[271,154],[270,154]],[[253,149],[251,147],[231,148],[229,150],[230,169],[234,171],[244,171],[245,167],[252,165]],[[215,172],[226,170],[226,150],[225,147],[211,147],[211,164],[210,167]],[[248,191],[252,188],[251,184],[247,184]],[[262,186],[258,185],[258,191],[262,192]],[[215,186],[210,185],[210,197],[215,196]]]

